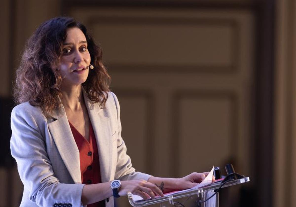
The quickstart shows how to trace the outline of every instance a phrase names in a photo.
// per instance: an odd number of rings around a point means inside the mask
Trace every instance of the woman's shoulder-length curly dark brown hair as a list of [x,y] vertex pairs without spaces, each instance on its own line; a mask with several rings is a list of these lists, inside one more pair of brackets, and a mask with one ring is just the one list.
[[83,24],[69,17],[57,17],[42,23],[28,39],[16,71],[14,97],[17,103],[28,101],[33,106],[39,106],[46,117],[61,107],[59,59],[67,29],[73,27],[79,28],[85,35],[91,64],[95,68],[89,71],[82,86],[90,101],[100,103],[101,108],[105,107],[110,76],[102,63],[102,49],[94,43]]

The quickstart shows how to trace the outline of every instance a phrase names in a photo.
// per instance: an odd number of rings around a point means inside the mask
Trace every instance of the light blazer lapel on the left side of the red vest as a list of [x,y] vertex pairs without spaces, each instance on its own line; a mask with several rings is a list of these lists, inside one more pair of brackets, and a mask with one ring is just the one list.
[[56,120],[49,123],[48,128],[73,181],[75,183],[81,183],[79,150],[75,143],[66,113],[61,111],[57,113],[61,116],[57,116]]

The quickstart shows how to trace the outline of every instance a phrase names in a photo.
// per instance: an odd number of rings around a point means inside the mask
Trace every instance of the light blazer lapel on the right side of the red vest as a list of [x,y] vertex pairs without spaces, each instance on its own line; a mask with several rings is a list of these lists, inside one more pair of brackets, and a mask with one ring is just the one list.
[[110,126],[110,118],[106,117],[104,110],[98,104],[91,104],[86,94],[84,102],[89,112],[89,118],[94,129],[96,142],[98,146],[101,180],[102,182],[110,181],[111,163],[112,163],[112,132]]

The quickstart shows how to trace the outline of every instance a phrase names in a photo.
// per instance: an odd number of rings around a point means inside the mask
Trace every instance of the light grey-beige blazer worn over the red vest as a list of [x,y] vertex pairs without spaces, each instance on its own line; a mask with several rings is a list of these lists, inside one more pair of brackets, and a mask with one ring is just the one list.
[[[120,107],[108,93],[106,108],[91,104],[83,93],[96,136],[102,182],[113,179],[145,179],[135,172],[121,138]],[[39,107],[28,102],[15,106],[11,114],[11,154],[24,184],[20,206],[83,206],[79,151],[64,110],[46,119]],[[62,204],[62,205],[61,205]],[[105,200],[113,207],[113,197]]]

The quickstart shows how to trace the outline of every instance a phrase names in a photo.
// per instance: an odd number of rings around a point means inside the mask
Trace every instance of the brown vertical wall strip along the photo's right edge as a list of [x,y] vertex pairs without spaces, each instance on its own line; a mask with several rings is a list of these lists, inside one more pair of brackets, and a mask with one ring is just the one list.
[[275,73],[275,206],[296,205],[296,21],[295,1],[277,2]]

